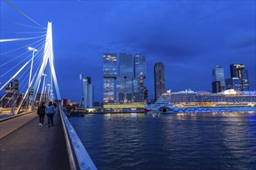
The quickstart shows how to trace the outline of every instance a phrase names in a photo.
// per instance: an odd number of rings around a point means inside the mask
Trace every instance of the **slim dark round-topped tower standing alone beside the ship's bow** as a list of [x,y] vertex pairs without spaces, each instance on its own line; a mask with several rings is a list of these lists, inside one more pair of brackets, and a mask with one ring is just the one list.
[[164,64],[157,62],[154,64],[154,97],[157,100],[165,91],[164,85]]

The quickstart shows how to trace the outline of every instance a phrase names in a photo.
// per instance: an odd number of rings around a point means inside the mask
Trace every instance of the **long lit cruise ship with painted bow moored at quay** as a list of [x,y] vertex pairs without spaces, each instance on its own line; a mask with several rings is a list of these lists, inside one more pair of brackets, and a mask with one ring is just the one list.
[[256,92],[230,89],[222,93],[192,90],[171,93],[168,90],[155,104],[144,108],[148,113],[167,114],[256,111]]

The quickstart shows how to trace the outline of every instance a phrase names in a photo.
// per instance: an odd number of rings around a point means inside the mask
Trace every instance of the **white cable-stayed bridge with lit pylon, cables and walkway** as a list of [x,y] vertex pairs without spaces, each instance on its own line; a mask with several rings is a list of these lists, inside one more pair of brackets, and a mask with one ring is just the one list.
[[[1,18],[0,168],[96,169],[61,104],[52,22],[45,27],[4,2],[29,24]],[[38,126],[37,107],[49,101],[57,104],[54,127]]]

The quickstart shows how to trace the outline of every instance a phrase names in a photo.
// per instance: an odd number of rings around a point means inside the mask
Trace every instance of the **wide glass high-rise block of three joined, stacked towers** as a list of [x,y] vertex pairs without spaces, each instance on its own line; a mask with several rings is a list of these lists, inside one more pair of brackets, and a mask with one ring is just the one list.
[[104,54],[103,58],[104,103],[144,101],[146,56],[119,53],[119,59],[116,54]]

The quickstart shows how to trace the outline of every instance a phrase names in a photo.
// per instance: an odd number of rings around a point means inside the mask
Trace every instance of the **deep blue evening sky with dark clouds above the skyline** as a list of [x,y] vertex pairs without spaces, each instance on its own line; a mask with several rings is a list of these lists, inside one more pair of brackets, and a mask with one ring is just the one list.
[[[213,67],[223,66],[228,78],[230,63],[246,66],[255,90],[254,1],[10,2],[45,27],[53,22],[62,98],[80,100],[83,73],[92,77],[95,100],[102,101],[102,53],[145,53],[149,98],[156,62],[164,63],[166,90],[211,91]],[[33,25],[5,2],[1,19]]]

